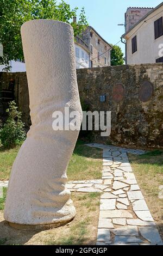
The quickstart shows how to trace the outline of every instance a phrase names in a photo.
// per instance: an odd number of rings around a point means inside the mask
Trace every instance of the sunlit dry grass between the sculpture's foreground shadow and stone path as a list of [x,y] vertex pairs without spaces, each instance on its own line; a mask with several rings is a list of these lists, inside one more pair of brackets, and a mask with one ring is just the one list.
[[[80,210],[80,218],[70,226],[68,233],[61,234],[57,239],[49,239],[45,242],[46,245],[83,245],[87,244],[87,240],[91,235],[91,225],[95,221],[95,214],[98,216],[99,198],[101,193],[73,193],[73,201],[77,202],[77,212]],[[83,212],[82,212],[83,211]],[[81,220],[82,217],[82,220]],[[98,217],[97,217],[98,218]],[[98,221],[97,221],[98,223]],[[95,223],[94,223],[95,224]],[[96,231],[97,232],[97,231]]]

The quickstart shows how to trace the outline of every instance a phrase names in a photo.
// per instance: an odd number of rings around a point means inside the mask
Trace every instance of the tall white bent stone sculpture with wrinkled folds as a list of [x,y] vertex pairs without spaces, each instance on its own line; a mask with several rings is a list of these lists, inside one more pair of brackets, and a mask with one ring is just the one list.
[[54,111],[69,107],[82,117],[73,29],[33,20],[22,25],[21,35],[32,126],[12,166],[4,218],[21,229],[58,227],[76,215],[65,184],[79,131],[52,129]]

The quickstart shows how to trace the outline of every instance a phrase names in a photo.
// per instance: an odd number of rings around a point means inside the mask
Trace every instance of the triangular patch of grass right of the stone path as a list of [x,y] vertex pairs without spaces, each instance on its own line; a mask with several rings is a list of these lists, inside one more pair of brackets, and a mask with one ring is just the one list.
[[159,186],[163,185],[163,151],[129,155],[129,161],[163,239],[163,200],[158,197]]

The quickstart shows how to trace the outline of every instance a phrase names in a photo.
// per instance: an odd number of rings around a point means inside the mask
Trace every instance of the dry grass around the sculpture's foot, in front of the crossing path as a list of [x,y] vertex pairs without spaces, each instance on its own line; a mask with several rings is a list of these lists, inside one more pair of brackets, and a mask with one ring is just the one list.
[[96,245],[99,193],[72,193],[77,215],[67,225],[46,231],[9,227],[0,211],[0,245]]

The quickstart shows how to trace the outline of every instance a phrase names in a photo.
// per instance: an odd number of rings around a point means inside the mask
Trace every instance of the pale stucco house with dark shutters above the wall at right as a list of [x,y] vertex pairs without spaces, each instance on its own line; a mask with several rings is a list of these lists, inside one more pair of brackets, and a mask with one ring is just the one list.
[[130,27],[126,23],[128,30],[122,38],[126,39],[127,64],[163,62],[163,54],[160,54],[160,47],[163,48],[162,16],[163,2],[156,8],[148,10],[135,25]]

